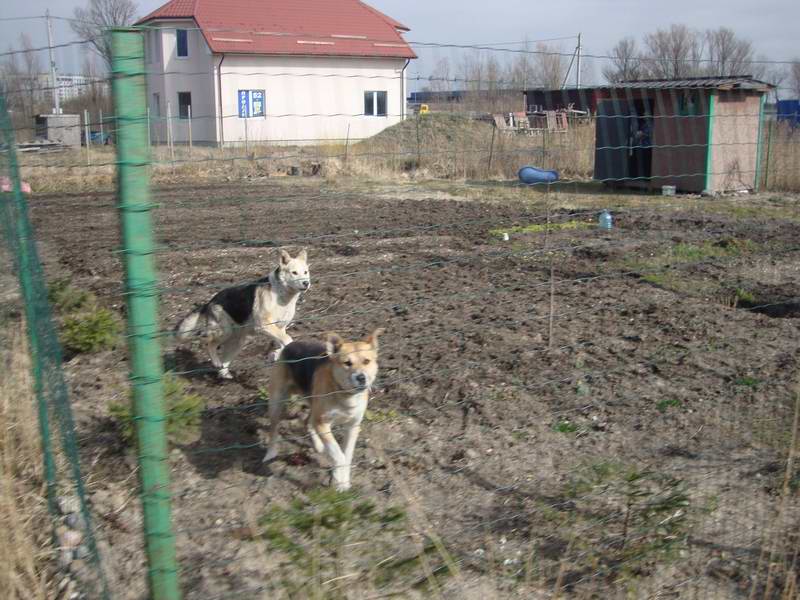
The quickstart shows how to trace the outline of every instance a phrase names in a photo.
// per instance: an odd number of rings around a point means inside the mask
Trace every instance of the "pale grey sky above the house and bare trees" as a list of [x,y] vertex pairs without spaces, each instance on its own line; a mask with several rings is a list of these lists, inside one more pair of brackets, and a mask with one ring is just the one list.
[[[43,15],[50,9],[54,16],[69,17],[75,6],[85,0],[0,0],[0,18]],[[140,14],[157,8],[163,1],[141,0]],[[411,28],[410,41],[455,44],[490,44],[537,40],[583,34],[584,53],[607,54],[622,37],[640,38],[643,33],[672,23],[686,23],[697,29],[726,26],[751,40],[760,55],[771,60],[789,60],[800,56],[800,0],[568,0],[532,3],[522,0],[371,0],[375,8]],[[0,21],[2,44],[16,44],[20,32],[31,35],[34,45],[47,45],[43,20]],[[57,44],[75,39],[66,22],[54,22]],[[571,52],[574,40],[555,42]],[[507,46],[514,48],[515,46]],[[516,46],[519,47],[519,46]],[[425,76],[439,56],[457,59],[461,51],[415,48],[421,56],[412,63],[412,77]],[[6,50],[2,48],[1,50]],[[80,70],[84,50],[81,46],[56,51],[60,72]],[[589,63],[586,83],[597,82],[600,65]],[[43,57],[43,66],[46,61]],[[412,87],[413,89],[413,87]]]

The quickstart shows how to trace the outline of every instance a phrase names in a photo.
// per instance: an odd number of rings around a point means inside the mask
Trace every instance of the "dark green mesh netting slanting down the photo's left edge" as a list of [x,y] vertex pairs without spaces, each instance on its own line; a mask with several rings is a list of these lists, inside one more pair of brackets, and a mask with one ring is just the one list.
[[[20,177],[14,131],[0,94],[0,178],[2,178],[2,231],[4,263],[9,270],[3,285],[6,315],[18,315],[27,330],[30,365],[41,435],[42,460],[49,512],[53,521],[52,564],[61,571],[60,582],[74,579],[91,597],[107,597],[101,558],[94,533],[86,481],[81,473],[78,432],[72,416],[70,394],[63,370],[62,348],[50,308],[54,293],[48,287],[34,228]],[[12,290],[18,289],[18,293]],[[4,321],[6,319],[4,318]],[[4,322],[12,327],[13,318]],[[20,401],[27,400],[21,398]],[[66,587],[66,585],[64,586]],[[74,592],[74,584],[71,586]]]

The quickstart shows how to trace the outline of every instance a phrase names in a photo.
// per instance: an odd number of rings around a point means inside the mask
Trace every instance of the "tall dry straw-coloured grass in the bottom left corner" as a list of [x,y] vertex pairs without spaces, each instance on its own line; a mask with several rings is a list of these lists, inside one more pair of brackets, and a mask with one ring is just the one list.
[[22,331],[9,333],[0,384],[0,596],[46,599],[54,597],[52,551],[30,364]]

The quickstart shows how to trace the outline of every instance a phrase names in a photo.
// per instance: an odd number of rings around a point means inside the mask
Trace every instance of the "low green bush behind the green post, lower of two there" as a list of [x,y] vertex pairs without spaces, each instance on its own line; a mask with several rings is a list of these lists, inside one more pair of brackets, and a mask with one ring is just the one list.
[[[200,422],[206,407],[205,398],[186,391],[186,382],[172,373],[165,373],[164,410],[167,413],[167,438],[173,444],[194,441],[200,432]],[[136,436],[136,419],[132,413],[133,398],[125,404],[112,404],[111,416],[127,444],[133,444]]]

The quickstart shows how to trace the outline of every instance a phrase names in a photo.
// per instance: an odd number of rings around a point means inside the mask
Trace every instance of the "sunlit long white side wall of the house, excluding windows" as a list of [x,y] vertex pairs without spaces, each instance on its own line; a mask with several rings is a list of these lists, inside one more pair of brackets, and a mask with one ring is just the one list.
[[[226,55],[222,63],[222,139],[314,143],[375,135],[405,110],[404,59]],[[263,90],[266,114],[240,118],[240,90]],[[364,92],[386,92],[386,115],[364,114]]]

